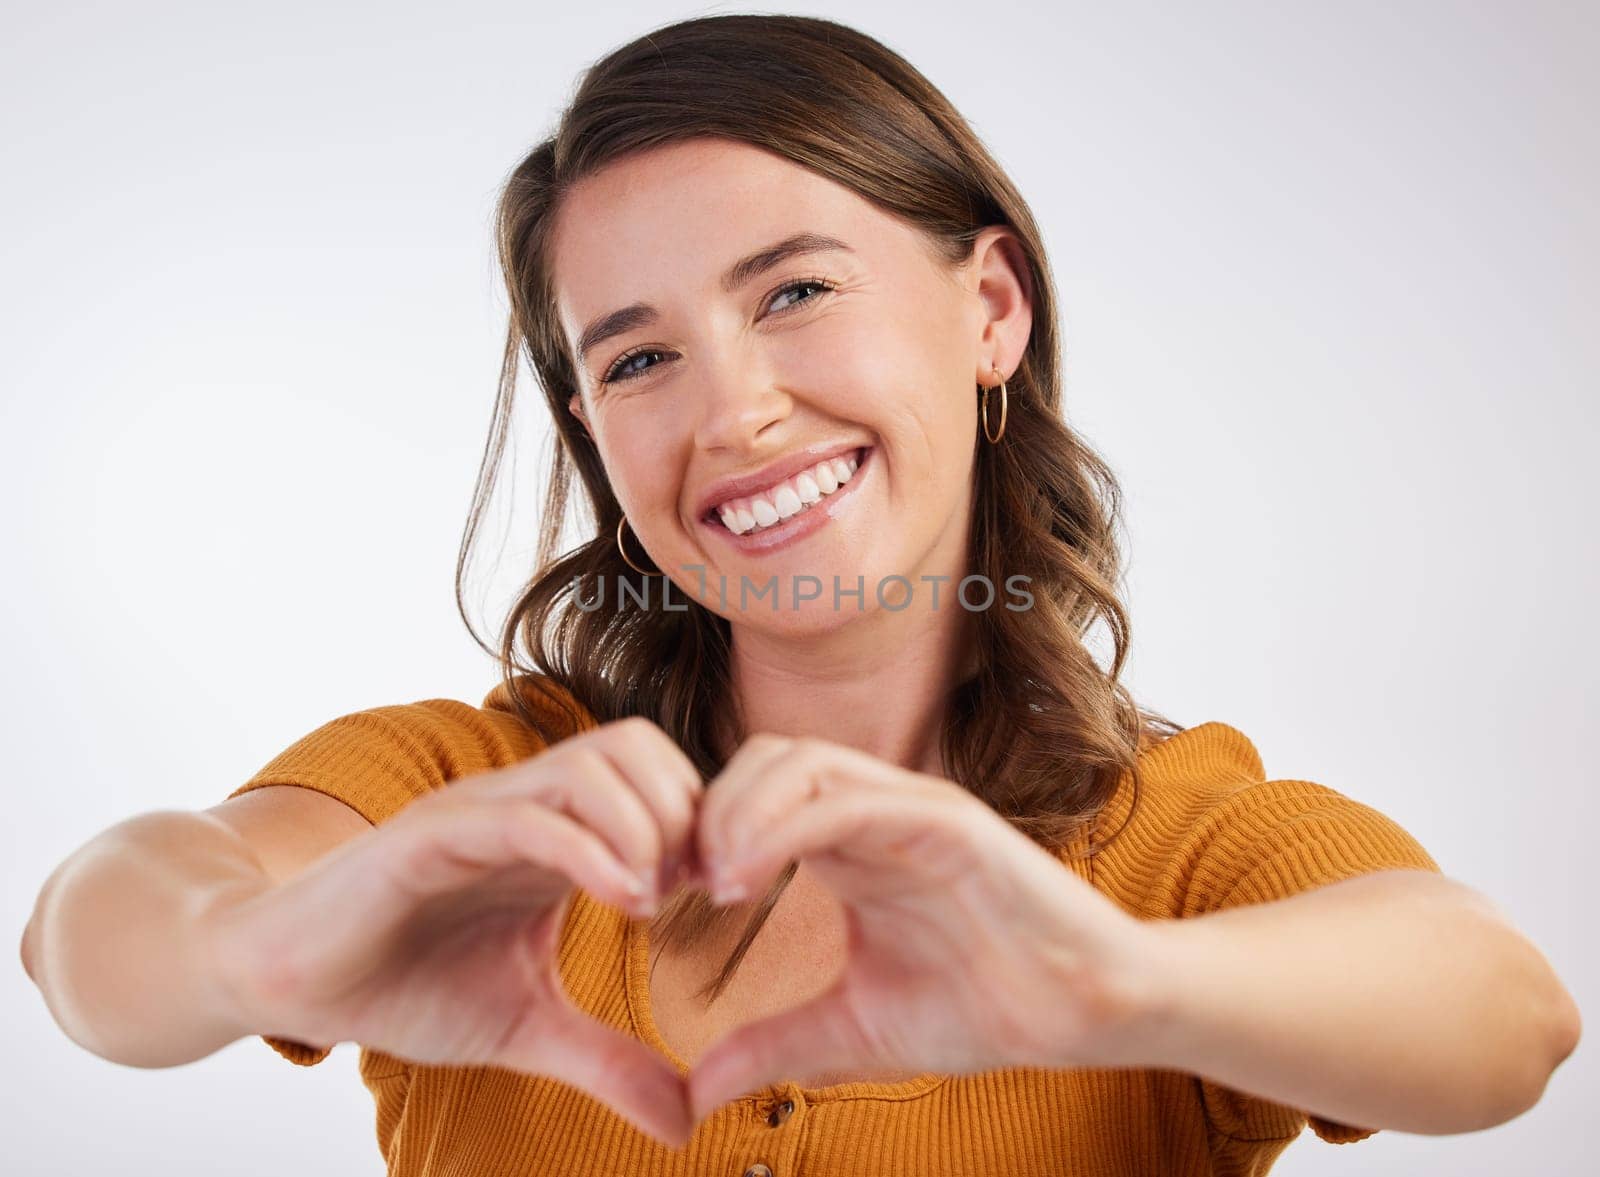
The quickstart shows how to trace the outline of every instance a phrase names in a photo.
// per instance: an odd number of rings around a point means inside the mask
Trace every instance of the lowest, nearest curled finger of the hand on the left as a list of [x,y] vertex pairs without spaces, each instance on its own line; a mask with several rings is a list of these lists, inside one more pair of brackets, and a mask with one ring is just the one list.
[[603,902],[643,913],[642,880],[594,830],[541,801],[472,798],[416,812],[416,820],[395,824],[397,844],[384,862],[418,899],[531,862]]

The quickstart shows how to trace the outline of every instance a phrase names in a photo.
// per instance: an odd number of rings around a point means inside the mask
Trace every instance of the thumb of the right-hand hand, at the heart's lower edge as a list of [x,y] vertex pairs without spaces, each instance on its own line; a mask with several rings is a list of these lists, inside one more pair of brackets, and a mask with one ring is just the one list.
[[694,1123],[728,1100],[778,1079],[805,1083],[822,1071],[882,1067],[870,1057],[843,995],[840,979],[802,1006],[746,1022],[706,1051],[688,1079]]

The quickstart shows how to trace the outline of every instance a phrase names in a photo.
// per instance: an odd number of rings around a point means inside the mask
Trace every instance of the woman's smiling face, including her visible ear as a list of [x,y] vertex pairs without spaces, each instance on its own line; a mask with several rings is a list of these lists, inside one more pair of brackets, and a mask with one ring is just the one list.
[[[938,608],[960,608],[978,385],[997,382],[994,365],[1013,371],[1030,325],[990,248],[1008,232],[986,229],[950,270],[848,189],[722,139],[650,149],[574,186],[552,237],[582,384],[570,408],[627,515],[634,563],[774,632],[896,609],[893,576],[912,606],[933,601],[922,577],[950,577]],[[725,280],[797,233],[837,245]],[[654,312],[594,329],[632,304]],[[824,459],[838,461],[818,470]]]

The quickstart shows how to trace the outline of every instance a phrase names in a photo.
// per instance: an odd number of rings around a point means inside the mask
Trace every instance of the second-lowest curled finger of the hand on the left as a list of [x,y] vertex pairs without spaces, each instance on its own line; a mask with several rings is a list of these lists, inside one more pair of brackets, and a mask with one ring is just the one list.
[[603,744],[574,740],[571,747],[557,745],[501,771],[504,777],[486,782],[478,795],[534,800],[566,814],[605,840],[629,870],[654,883],[662,851],[661,824],[605,755]]

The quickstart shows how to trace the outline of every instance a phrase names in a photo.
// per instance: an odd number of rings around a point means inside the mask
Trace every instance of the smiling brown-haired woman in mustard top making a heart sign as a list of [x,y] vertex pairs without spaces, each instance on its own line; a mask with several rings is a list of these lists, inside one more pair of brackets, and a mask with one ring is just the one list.
[[[499,245],[462,566],[523,353],[562,438],[502,681],[62,864],[22,952],[69,1035],[354,1039],[395,1174],[1246,1174],[1539,1099],[1578,1012],[1493,904],[1118,683],[1038,229],[906,61],[659,29]],[[573,467],[597,528],[557,557]]]

